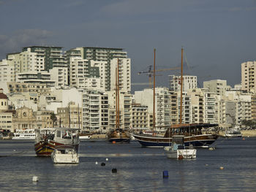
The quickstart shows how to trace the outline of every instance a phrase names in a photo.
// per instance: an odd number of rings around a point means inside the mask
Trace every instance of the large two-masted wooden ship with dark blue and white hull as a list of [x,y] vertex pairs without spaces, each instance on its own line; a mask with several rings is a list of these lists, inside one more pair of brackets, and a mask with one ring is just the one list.
[[[154,88],[153,88],[153,131],[155,127],[155,49],[154,49]],[[180,120],[179,124],[168,126],[163,137],[148,136],[145,134],[132,134],[132,137],[137,140],[142,147],[165,147],[170,145],[174,135],[184,135],[184,145],[189,147],[209,147],[218,138],[217,134],[206,134],[204,129],[218,126],[211,123],[181,123],[182,112],[182,86],[183,86],[183,48],[181,49],[181,104],[180,104]]]

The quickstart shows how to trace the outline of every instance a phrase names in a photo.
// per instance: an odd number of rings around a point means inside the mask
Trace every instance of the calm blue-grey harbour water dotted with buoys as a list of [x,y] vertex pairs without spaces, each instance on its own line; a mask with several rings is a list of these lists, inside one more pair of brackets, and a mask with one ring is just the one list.
[[0,191],[256,191],[256,138],[218,139],[214,145],[213,151],[197,149],[197,158],[188,161],[138,142],[86,141],[80,142],[80,164],[54,165],[35,156],[34,142],[1,140]]

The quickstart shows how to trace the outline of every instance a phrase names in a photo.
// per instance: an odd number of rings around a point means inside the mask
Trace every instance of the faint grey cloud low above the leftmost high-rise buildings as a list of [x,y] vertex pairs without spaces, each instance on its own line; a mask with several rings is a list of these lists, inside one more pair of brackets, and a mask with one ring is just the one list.
[[20,52],[22,47],[47,44],[53,33],[41,29],[22,29],[9,35],[0,34],[0,58],[7,53]]

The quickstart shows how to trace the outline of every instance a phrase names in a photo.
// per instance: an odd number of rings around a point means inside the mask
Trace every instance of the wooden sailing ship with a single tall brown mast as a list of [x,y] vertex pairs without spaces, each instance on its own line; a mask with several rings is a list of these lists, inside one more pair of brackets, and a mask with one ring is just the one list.
[[111,143],[129,143],[129,131],[120,126],[120,109],[119,109],[119,62],[117,59],[116,67],[116,128],[110,129],[107,138]]

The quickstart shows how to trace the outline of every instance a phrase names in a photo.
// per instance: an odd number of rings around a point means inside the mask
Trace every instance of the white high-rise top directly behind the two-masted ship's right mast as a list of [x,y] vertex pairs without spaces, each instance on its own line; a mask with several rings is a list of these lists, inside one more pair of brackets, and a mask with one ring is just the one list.
[[[181,91],[181,76],[169,75],[170,91]],[[197,76],[183,75],[183,91],[197,88]]]

